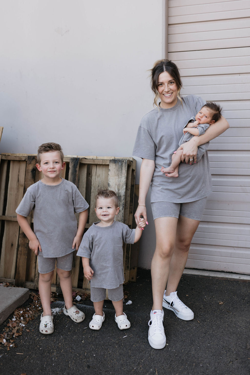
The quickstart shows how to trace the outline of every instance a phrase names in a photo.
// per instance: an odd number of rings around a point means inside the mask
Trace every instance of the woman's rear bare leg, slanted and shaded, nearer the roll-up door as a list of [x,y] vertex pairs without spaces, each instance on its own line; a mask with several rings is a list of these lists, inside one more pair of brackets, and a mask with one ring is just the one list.
[[181,275],[183,274],[184,268],[187,263],[190,244],[199,223],[199,220],[193,220],[184,216],[179,216],[175,251],[172,255],[170,263],[166,296],[169,296],[171,292],[175,292],[177,290]]

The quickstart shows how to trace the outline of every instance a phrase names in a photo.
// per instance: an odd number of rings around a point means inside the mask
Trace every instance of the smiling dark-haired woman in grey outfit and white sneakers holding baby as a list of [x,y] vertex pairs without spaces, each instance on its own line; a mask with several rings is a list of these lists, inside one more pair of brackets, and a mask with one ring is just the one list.
[[204,135],[195,136],[181,145],[182,161],[186,163],[181,163],[179,177],[162,174],[160,168],[170,165],[183,127],[206,103],[195,95],[181,98],[181,86],[180,74],[173,62],[159,60],[154,64],[151,89],[157,108],[142,118],[133,150],[134,156],[142,158],[136,224],[141,215],[147,222],[145,199],[151,184],[151,207],[156,229],[156,250],[151,263],[153,307],[148,323],[148,341],[155,349],[162,349],[166,344],[162,306],[174,311],[183,320],[194,317],[192,310],[177,297],[177,287],[191,240],[211,191],[207,152],[199,156],[197,150],[199,145],[216,138],[229,127],[222,117]]

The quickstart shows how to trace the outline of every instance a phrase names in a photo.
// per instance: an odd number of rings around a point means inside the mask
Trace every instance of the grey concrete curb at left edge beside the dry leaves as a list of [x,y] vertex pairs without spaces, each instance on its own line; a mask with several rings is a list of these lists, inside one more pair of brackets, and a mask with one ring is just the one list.
[[29,298],[27,288],[3,287],[0,285],[0,324],[12,314],[15,309]]

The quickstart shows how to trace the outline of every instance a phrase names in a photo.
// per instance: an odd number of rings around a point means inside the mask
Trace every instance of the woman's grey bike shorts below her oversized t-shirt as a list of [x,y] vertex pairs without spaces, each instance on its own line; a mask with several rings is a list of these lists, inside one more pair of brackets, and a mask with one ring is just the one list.
[[200,221],[206,201],[207,197],[187,203],[153,202],[151,208],[154,219],[158,219],[158,217],[177,217],[178,219],[181,215]]

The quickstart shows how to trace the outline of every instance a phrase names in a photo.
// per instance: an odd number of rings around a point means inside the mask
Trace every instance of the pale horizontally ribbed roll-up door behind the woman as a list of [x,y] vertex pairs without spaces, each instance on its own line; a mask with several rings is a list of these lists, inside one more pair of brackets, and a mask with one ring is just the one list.
[[182,95],[218,102],[230,124],[210,142],[213,193],[187,267],[250,273],[250,3],[169,0],[168,15]]

